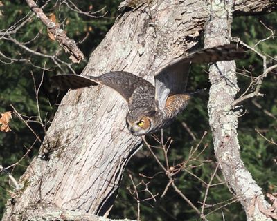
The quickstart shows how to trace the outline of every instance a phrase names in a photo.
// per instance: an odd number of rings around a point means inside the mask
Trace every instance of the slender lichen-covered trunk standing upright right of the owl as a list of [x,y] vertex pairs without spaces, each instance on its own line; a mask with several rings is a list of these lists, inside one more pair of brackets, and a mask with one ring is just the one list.
[[[233,0],[213,1],[211,20],[205,29],[205,47],[228,44],[231,37]],[[268,207],[260,186],[253,180],[240,158],[238,142],[238,115],[231,104],[239,88],[235,75],[235,61],[217,62],[210,68],[210,98],[208,115],[213,132],[215,157],[220,164],[224,179],[238,198],[247,220],[271,220],[260,211],[258,203]]]

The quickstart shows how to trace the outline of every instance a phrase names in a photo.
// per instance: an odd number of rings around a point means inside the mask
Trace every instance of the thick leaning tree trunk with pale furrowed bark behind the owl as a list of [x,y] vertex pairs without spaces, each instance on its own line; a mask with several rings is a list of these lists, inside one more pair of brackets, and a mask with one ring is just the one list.
[[[210,16],[208,2],[157,0],[126,12],[83,74],[125,70],[153,81],[154,70],[197,44]],[[126,111],[123,98],[105,86],[69,91],[3,220],[20,220],[37,204],[105,215],[127,162],[141,144],[127,131]]]

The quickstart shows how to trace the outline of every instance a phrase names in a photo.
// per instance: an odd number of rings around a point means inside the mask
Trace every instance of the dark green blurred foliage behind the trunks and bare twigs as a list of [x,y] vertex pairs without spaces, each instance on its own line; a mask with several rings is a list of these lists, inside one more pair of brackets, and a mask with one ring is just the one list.
[[[114,23],[118,15],[117,8],[120,1],[97,0],[74,2],[83,11],[97,11],[106,6],[105,10],[98,12],[98,16],[105,15],[105,17],[100,18],[80,15],[77,12],[69,10],[65,5],[59,8],[54,3],[48,3],[46,8],[44,8],[46,14],[55,14],[61,27],[66,30],[67,35],[71,39],[79,41],[78,46],[84,52],[86,61],[82,61],[80,64],[73,64],[72,68],[76,73],[80,73],[82,68],[87,64],[89,55],[93,49],[102,41]],[[39,3],[40,5],[44,4],[43,1]],[[3,4],[4,6],[0,8],[3,14],[0,19],[1,30],[15,24],[19,19],[27,15],[30,10],[26,6],[25,1],[3,1]],[[271,32],[265,26],[276,30],[276,26],[274,26],[276,25],[276,19],[276,12],[269,15],[235,18],[233,21],[233,36],[240,37],[244,42],[253,46],[260,39],[265,39],[265,37],[271,35]],[[28,43],[37,34],[38,37]],[[54,55],[59,50],[59,45],[49,39],[46,28],[35,17],[33,17],[31,22],[26,23],[24,27],[19,29],[17,34],[12,35],[12,37],[15,37],[17,41],[26,42],[26,46],[32,50],[48,55]],[[8,64],[10,63],[9,60],[0,56],[0,60],[2,61],[0,65],[0,112],[3,113],[12,110],[10,106],[12,104],[21,114],[26,116],[38,115],[31,73],[33,73],[36,86],[38,86],[42,79],[43,70],[37,68],[37,66],[45,66],[48,70],[44,73],[44,82],[39,91],[39,107],[42,119],[45,122],[45,127],[48,128],[57,109],[57,104],[59,104],[62,98],[62,95],[58,94],[57,91],[51,90],[49,77],[62,72],[70,73],[71,70],[67,66],[62,66],[61,70],[57,68],[51,59],[32,55],[5,39],[1,39],[0,48],[3,54],[13,59],[28,59],[28,61],[15,61],[12,64]],[[261,42],[257,46],[257,50],[271,57],[276,56],[276,40],[270,39]],[[63,61],[70,62],[69,56],[64,54],[62,50],[58,53],[58,57]],[[240,95],[249,85],[251,77],[258,76],[262,72],[262,60],[253,52],[250,52],[248,59],[240,60],[237,64],[238,84],[241,88]],[[193,66],[188,85],[190,91],[196,90],[197,88],[209,87],[207,70],[208,68],[206,66]],[[242,74],[247,75],[247,77]],[[263,82],[261,92],[265,94],[265,97],[253,98],[244,102],[244,115],[240,117],[238,128],[240,145],[242,147],[242,160],[244,160],[247,169],[249,169],[265,193],[277,191],[277,177],[274,173],[276,171],[276,163],[274,160],[277,155],[277,146],[269,144],[269,142],[256,132],[256,129],[262,131],[262,134],[269,139],[277,140],[276,77],[273,74],[268,75]],[[173,139],[168,160],[170,165],[175,166],[184,162],[184,160],[188,160],[190,148],[197,146],[204,131],[208,131],[208,135],[200,143],[197,153],[204,146],[206,146],[205,151],[200,155],[199,160],[190,160],[186,167],[188,171],[208,183],[211,179],[211,174],[215,171],[216,164],[213,156],[212,137],[211,133],[209,133],[210,129],[206,110],[207,102],[208,90],[195,95],[188,108],[186,108],[186,111],[178,117],[174,124],[163,131],[163,137],[165,140],[168,137],[172,137]],[[195,135],[195,140],[188,133],[184,124],[182,124],[184,122]],[[35,122],[30,122],[30,126],[43,139],[44,128]],[[26,153],[27,148],[33,146],[32,151],[24,157],[24,160],[21,160],[17,166],[8,169],[12,172],[12,175],[19,179],[20,175],[24,173],[26,166],[32,160],[32,157],[37,153],[39,142],[35,142],[33,133],[15,115],[10,127],[12,128],[11,132],[0,133],[1,165],[6,167],[18,162]],[[160,137],[160,133],[157,135]],[[153,145],[158,145],[152,137],[147,137],[147,140]],[[164,162],[161,151],[155,149],[154,152]],[[176,184],[186,197],[200,208],[202,206],[201,202],[204,199],[206,186],[203,182],[199,182],[199,180],[190,175],[188,171],[181,171],[175,177]],[[166,188],[166,184],[168,184],[168,178],[162,172],[161,168],[159,168],[159,165],[155,162],[154,157],[149,153],[146,146],[129,162],[119,189],[118,198],[110,213],[112,218],[136,218],[136,200],[128,191],[128,189],[133,189],[129,174],[132,175],[135,184],[139,184],[142,180],[144,183],[150,182],[148,184],[149,191],[153,195],[158,194],[156,197],[157,202],[154,202],[154,200],[143,200],[150,198],[150,193],[143,191],[145,190],[145,185],[143,184],[137,187],[140,190],[141,220],[197,220],[198,217],[193,209],[173,189],[169,189],[165,197],[160,199],[163,190]],[[5,174],[2,173],[0,179],[0,211],[3,211],[6,199],[10,198],[9,191],[11,189]],[[220,182],[222,182],[222,175],[218,171],[212,183],[216,184]],[[232,198],[233,195],[230,193],[226,184],[211,187],[206,203],[213,206],[206,209],[206,213],[212,212],[217,207],[231,202],[230,199]],[[220,202],[224,203],[215,205]],[[222,209],[214,211],[208,218],[210,220],[222,220],[222,213],[226,220],[245,220],[244,211],[238,202],[231,203]]]

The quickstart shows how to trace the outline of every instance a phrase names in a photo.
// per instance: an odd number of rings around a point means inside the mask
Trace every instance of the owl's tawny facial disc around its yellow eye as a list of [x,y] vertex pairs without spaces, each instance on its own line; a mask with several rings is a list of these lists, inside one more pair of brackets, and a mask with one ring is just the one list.
[[145,135],[151,128],[151,121],[148,117],[141,117],[141,119],[136,122],[129,122],[127,119],[126,124],[129,131],[131,131],[134,136]]

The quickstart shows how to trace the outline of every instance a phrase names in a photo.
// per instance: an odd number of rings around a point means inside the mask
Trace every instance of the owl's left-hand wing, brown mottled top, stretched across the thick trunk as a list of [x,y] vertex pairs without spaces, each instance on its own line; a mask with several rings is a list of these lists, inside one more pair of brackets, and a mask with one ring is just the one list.
[[[98,77],[89,75],[56,75],[53,84],[61,90],[84,88],[97,84],[109,86],[116,90],[129,103],[135,90],[139,91],[136,98],[150,99],[154,97],[154,86],[145,79],[124,71],[113,71]],[[141,90],[143,88],[143,90]],[[133,96],[132,96],[133,95]],[[139,96],[139,97],[138,97]]]

